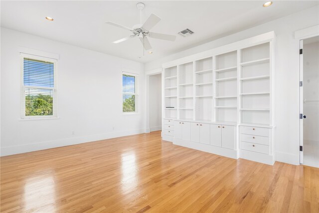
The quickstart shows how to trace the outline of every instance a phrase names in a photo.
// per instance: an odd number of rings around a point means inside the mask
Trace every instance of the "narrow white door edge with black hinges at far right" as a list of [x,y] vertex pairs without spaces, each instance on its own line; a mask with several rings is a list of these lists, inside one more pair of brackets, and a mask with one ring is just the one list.
[[304,40],[300,40],[300,46],[299,46],[299,120],[300,120],[300,148],[299,148],[299,154],[300,154],[300,163],[304,163],[304,87],[303,87],[303,81],[304,81],[304,55],[303,55],[303,47],[304,47]]

